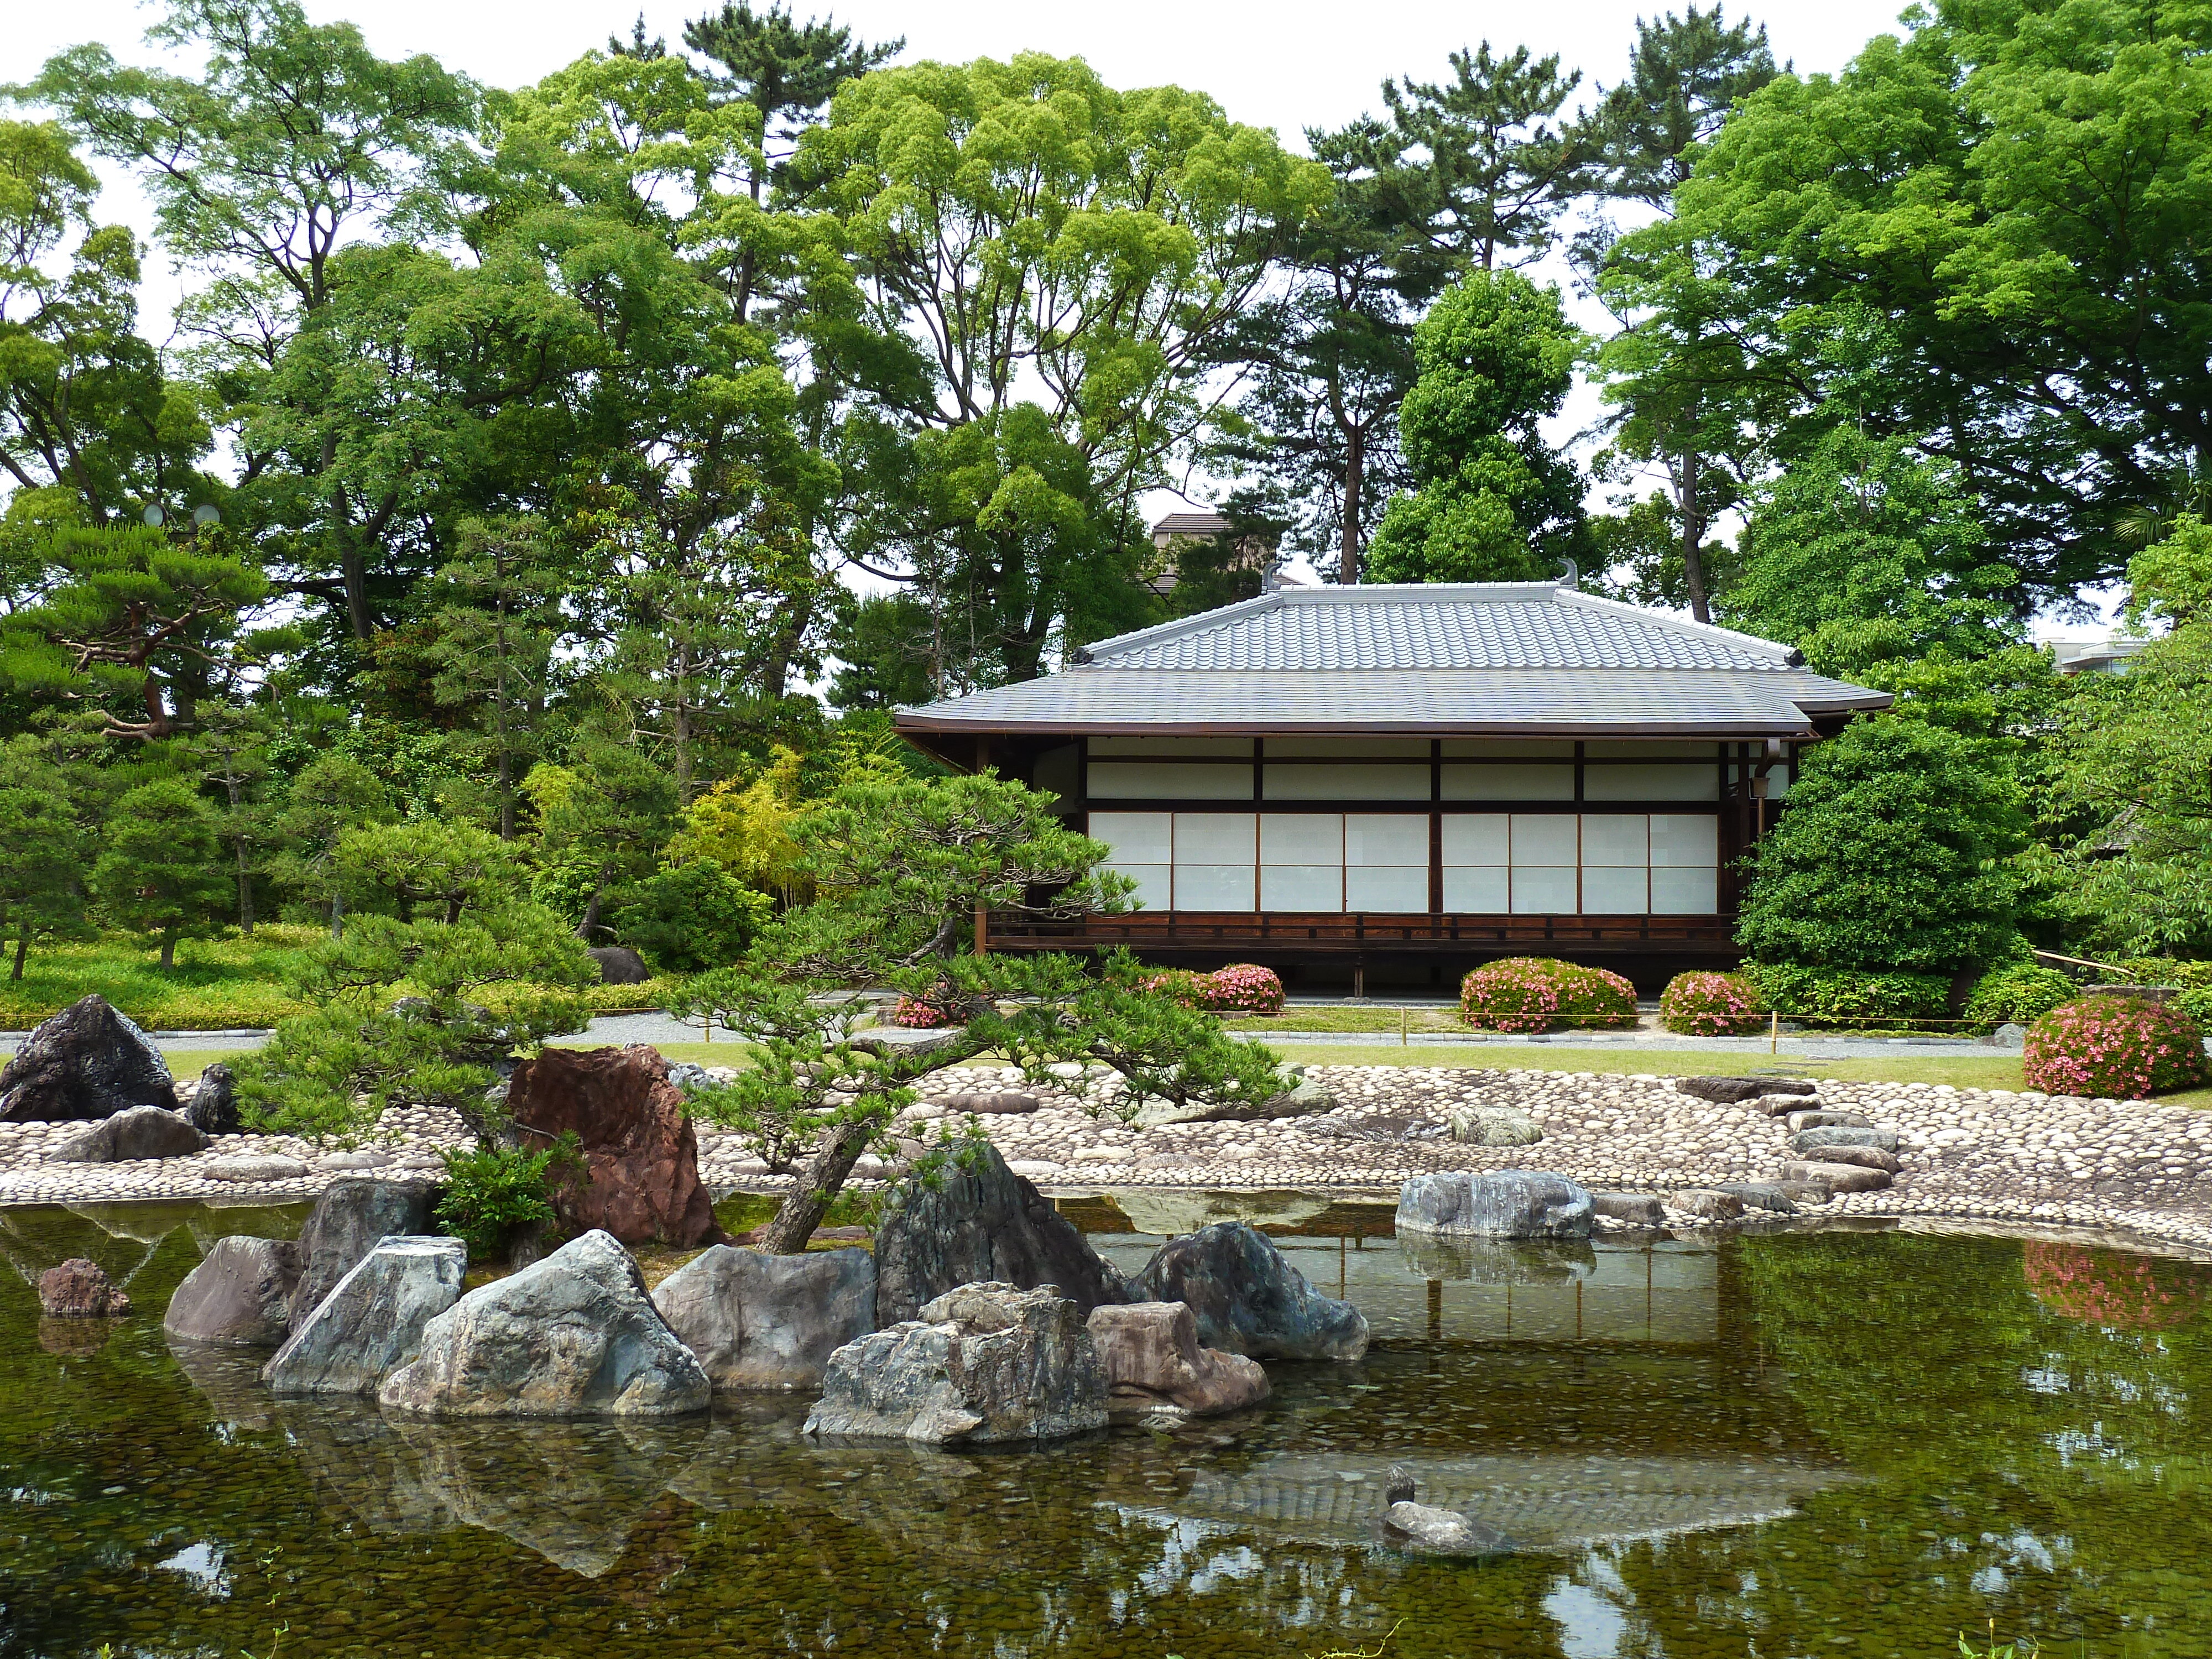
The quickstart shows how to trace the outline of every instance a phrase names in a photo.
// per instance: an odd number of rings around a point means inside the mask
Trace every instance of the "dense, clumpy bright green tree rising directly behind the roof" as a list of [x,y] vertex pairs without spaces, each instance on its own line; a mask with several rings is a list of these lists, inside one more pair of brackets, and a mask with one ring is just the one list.
[[1544,442],[1584,336],[1559,290],[1473,270],[1413,330],[1420,380],[1400,429],[1418,489],[1391,500],[1380,582],[1537,582],[1582,546],[1582,478]]

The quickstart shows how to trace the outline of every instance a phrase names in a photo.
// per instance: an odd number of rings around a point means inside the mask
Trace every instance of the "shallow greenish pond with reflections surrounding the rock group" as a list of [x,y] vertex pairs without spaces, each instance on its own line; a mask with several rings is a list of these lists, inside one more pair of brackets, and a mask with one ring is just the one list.
[[[1252,1199],[1064,1208],[1121,1265]],[[805,1400],[637,1425],[276,1402],[173,1354],[208,1241],[296,1210],[0,1210],[0,1657],[2212,1655],[2212,1267],[1765,1232],[1453,1259],[1276,1194],[1365,1363],[1044,1451],[816,1447]],[[42,1323],[86,1254],[139,1316]],[[1407,1559],[1380,1475],[1522,1548]],[[1387,1639],[1387,1641],[1385,1641]]]

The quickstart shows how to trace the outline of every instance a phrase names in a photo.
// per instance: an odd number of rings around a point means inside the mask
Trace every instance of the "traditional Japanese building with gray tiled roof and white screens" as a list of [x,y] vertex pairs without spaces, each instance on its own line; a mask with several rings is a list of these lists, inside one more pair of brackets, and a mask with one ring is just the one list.
[[[1290,588],[898,710],[1048,790],[1141,909],[991,949],[1438,980],[1734,962],[1734,865],[1807,743],[1889,695],[1767,639],[1548,582]],[[1323,973],[1323,969],[1334,969]]]

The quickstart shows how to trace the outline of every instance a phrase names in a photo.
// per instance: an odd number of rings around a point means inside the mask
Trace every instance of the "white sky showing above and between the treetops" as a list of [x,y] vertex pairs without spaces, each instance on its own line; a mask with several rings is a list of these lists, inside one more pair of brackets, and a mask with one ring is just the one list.
[[[719,0],[717,0],[719,4]],[[708,0],[646,0],[648,33],[675,42],[686,18],[708,11]],[[794,0],[810,15],[810,0]],[[1283,0],[1115,0],[1115,4],[1040,7],[1011,0],[847,0],[834,13],[865,40],[905,35],[905,60],[1006,58],[1015,51],[1048,51],[1091,62],[1113,86],[1157,86],[1175,82],[1210,93],[1232,119],[1272,126],[1285,144],[1303,148],[1303,128],[1340,126],[1380,108],[1385,77],[1442,80],[1444,55],[1480,40],[1500,51],[1526,44],[1537,53],[1559,53],[1584,71],[1584,88],[1613,84],[1628,62],[1635,20],[1670,9],[1668,0],[1553,0],[1542,7],[1440,4],[1318,4]],[[1825,4],[1770,7],[1767,33],[1778,60],[1801,73],[1838,71],[1876,33],[1896,29],[1896,0],[1827,0]],[[383,58],[427,51],[445,64],[495,86],[522,86],[608,33],[628,35],[637,0],[307,0],[316,22],[352,18]],[[1743,15],[1725,4],[1725,15]],[[142,35],[159,15],[131,0],[80,0],[77,4],[11,7],[0,33],[0,82],[18,82],[38,71],[49,53],[100,40],[117,58],[148,62]],[[1761,15],[1750,9],[1750,15]],[[106,192],[100,217],[126,221],[150,237],[153,217],[128,179],[102,168]],[[1548,270],[1564,279],[1562,270]],[[155,254],[146,270],[144,332],[161,338],[168,310],[179,292],[166,261]],[[1601,323],[1601,312],[1575,305],[1584,325]],[[1597,398],[1577,387],[1555,440],[1584,429],[1597,414]],[[1155,507],[1177,502],[1161,498]]]

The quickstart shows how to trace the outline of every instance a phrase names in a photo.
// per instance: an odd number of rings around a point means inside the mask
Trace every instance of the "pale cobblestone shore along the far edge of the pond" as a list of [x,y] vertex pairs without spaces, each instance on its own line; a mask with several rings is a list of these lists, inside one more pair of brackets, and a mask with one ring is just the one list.
[[[1310,1066],[1307,1077],[1336,1097],[1332,1110],[1137,1130],[1113,1115],[1119,1079],[1106,1077],[1097,1084],[1104,1115],[1084,1110],[1066,1091],[1048,1091],[1037,1110],[991,1115],[982,1124],[1018,1172],[1062,1192],[1396,1188],[1440,1168],[1540,1168],[1593,1188],[1668,1194],[1778,1179],[1798,1157],[1787,1124],[1767,1117],[1759,1102],[1717,1106],[1661,1077],[1418,1066]],[[931,1097],[905,1128],[922,1135],[933,1119],[958,1115],[945,1104],[951,1095],[1020,1088],[1018,1073],[995,1066],[938,1073]],[[1816,1102],[1792,1104],[1860,1113],[1893,1128],[1905,1164],[1887,1192],[1838,1194],[1809,1214],[2117,1228],[2212,1250],[2208,1113],[2157,1102],[1834,1079],[1820,1082]],[[1542,1126],[1544,1139],[1520,1148],[1453,1141],[1442,1133],[1453,1106],[1513,1106]],[[239,1135],[190,1159],[46,1164],[44,1146],[75,1133],[75,1124],[0,1124],[0,1203],[285,1201],[319,1192],[367,1159],[434,1170],[436,1148],[465,1139],[447,1113],[400,1113],[387,1126],[394,1139],[367,1155],[321,1157],[301,1141]],[[210,1179],[215,1166],[239,1157],[294,1159],[301,1168],[270,1181]],[[703,1128],[699,1157],[717,1190],[779,1186],[734,1135]],[[874,1159],[856,1170],[863,1181],[891,1172]]]

